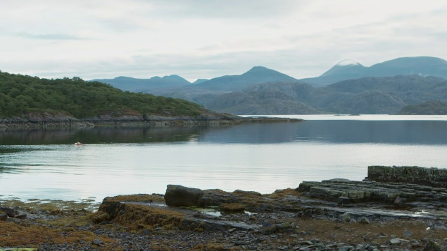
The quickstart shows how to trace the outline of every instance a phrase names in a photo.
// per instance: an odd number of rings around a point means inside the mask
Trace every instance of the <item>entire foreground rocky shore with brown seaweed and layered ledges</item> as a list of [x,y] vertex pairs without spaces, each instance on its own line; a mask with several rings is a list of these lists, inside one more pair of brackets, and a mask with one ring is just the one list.
[[0,250],[447,250],[445,174],[373,166],[364,181],[268,195],[168,185],[106,197],[94,212],[3,201]]

